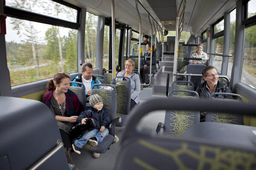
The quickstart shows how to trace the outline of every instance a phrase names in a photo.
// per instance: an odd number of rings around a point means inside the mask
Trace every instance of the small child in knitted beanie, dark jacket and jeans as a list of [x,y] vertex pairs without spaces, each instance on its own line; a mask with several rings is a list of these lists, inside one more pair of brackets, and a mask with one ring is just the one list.
[[[78,122],[82,124],[86,124],[86,119],[89,117],[94,119],[96,122],[96,127],[93,130],[90,130],[84,135],[75,140],[72,144],[73,150],[80,154],[81,148],[89,142],[90,145],[96,147],[98,143],[102,142],[105,136],[108,135],[108,128],[106,128],[110,124],[110,116],[106,111],[105,106],[103,106],[102,97],[98,94],[94,94],[90,96],[90,107],[85,108],[84,112],[81,112],[78,118]],[[95,156],[97,155],[97,156]],[[99,153],[93,153],[93,157],[99,157]]]

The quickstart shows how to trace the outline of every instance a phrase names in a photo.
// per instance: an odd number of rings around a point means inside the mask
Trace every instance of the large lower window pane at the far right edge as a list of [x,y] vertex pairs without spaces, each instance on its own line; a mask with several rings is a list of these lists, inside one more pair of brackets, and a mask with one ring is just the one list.
[[245,28],[241,82],[256,89],[256,25]]

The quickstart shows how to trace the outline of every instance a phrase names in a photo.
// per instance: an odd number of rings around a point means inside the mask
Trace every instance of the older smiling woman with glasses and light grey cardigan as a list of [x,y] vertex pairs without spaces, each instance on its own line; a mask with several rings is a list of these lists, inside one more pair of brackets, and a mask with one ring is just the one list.
[[[140,77],[133,72],[135,62],[132,59],[125,61],[125,70],[120,71],[117,76],[129,77],[131,79],[131,105],[133,108],[140,102]],[[116,78],[116,80],[126,80],[123,78]]]

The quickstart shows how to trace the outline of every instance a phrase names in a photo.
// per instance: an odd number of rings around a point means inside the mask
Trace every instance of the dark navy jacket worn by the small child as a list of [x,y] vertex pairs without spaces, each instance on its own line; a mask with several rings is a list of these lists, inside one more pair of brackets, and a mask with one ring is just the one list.
[[81,123],[81,120],[84,118],[93,118],[96,122],[96,127],[95,129],[100,129],[101,126],[105,126],[106,128],[110,124],[110,116],[108,112],[106,111],[105,106],[103,106],[101,111],[97,111],[93,107],[86,107],[85,111],[81,112],[78,118],[78,122]]

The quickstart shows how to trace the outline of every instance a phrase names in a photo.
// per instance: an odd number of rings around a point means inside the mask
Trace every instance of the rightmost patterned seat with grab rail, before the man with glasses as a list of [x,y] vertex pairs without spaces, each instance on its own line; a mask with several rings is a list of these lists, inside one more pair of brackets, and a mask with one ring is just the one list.
[[[213,96],[217,95],[230,95],[233,97],[238,97],[237,102],[242,102],[242,98],[239,94],[232,94],[232,93],[212,93],[210,99]],[[218,99],[213,98],[213,100],[221,100],[221,101],[234,101],[233,99]],[[216,112],[207,112],[205,116],[205,122],[218,122],[218,123],[228,123],[228,124],[236,124],[236,125],[244,125],[244,116],[238,114],[231,114],[231,113],[216,113]]]

